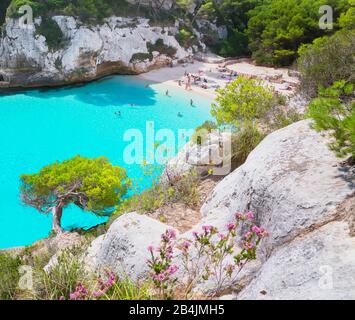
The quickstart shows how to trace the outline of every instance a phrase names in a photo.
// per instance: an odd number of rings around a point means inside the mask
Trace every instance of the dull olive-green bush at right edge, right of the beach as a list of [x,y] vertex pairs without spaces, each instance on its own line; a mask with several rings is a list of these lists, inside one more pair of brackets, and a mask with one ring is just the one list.
[[315,97],[320,86],[334,82],[355,82],[355,30],[340,31],[332,37],[319,38],[300,48],[298,69],[303,92]]

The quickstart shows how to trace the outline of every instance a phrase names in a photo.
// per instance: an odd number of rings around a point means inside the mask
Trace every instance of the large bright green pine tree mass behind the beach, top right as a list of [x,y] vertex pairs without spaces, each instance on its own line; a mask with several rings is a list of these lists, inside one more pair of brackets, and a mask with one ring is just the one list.
[[331,31],[319,28],[319,8],[330,5],[334,29],[338,18],[348,10],[348,0],[272,0],[260,1],[248,15],[249,48],[257,63],[287,66],[297,58],[304,43]]

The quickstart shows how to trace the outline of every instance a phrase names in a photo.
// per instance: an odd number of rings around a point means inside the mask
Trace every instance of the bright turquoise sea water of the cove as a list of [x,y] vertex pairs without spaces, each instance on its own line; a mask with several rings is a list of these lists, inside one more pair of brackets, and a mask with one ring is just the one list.
[[[144,176],[141,165],[123,159],[129,144],[123,140],[126,130],[146,135],[146,122],[154,121],[155,131],[167,128],[177,133],[210,119],[208,99],[172,88],[166,96],[163,85],[146,84],[136,77],[117,76],[80,87],[0,96],[0,248],[29,245],[50,232],[50,215],[21,204],[21,174],[78,154],[105,156],[126,168],[130,178],[142,179],[140,186],[146,188],[151,178]],[[66,229],[104,221],[74,206],[64,210]]]

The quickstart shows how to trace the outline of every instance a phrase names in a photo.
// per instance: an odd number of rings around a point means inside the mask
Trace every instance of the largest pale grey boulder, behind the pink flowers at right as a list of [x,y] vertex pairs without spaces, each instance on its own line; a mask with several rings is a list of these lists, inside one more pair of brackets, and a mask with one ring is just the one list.
[[217,225],[253,211],[270,233],[261,246],[264,260],[274,248],[332,221],[355,191],[354,176],[310,124],[300,121],[266,137],[201,209],[206,222]]

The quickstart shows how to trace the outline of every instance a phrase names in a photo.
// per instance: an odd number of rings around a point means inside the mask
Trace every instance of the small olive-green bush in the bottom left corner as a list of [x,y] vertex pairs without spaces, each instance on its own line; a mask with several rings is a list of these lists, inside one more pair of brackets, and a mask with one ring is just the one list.
[[13,300],[16,297],[20,265],[18,256],[0,253],[0,300]]

